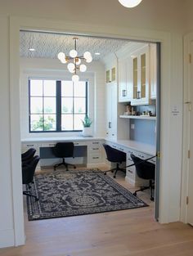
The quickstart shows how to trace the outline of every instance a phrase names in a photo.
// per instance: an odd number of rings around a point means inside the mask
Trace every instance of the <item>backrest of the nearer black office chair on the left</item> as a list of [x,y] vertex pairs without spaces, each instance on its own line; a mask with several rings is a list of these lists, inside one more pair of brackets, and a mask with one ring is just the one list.
[[34,180],[35,168],[37,167],[39,156],[35,155],[34,158],[28,162],[22,164],[22,183],[29,184]]

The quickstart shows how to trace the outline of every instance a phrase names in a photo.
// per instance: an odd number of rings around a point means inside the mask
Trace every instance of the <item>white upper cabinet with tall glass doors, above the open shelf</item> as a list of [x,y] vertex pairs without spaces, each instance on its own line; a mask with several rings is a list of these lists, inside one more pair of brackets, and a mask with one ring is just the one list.
[[132,52],[132,106],[150,103],[149,45]]

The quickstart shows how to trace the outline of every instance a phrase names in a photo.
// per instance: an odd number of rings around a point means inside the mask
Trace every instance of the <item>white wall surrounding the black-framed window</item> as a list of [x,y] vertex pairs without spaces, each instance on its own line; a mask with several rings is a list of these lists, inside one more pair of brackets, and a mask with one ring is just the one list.
[[[93,120],[92,126],[95,137],[104,137],[103,123],[105,106],[105,67],[99,61],[92,61],[87,72],[79,74],[80,79],[88,80],[88,111]],[[29,78],[71,79],[66,71],[66,65],[58,60],[20,58],[20,134],[21,139],[39,137],[37,133],[29,133]],[[96,94],[96,95],[95,95]],[[82,132],[52,132],[41,133],[41,137],[81,136]]]

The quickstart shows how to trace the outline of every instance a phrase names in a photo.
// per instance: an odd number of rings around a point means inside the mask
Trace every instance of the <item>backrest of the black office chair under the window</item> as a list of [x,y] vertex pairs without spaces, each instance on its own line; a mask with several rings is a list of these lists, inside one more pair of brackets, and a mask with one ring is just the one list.
[[53,147],[53,153],[56,157],[73,157],[74,156],[74,143],[73,142],[58,142]]

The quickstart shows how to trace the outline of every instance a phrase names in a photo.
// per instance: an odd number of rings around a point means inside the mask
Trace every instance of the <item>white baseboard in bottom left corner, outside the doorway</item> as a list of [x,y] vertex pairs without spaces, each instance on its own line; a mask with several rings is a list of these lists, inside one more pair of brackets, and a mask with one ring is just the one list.
[[0,248],[11,247],[15,245],[14,230],[7,229],[0,231]]

